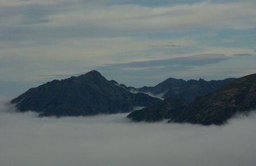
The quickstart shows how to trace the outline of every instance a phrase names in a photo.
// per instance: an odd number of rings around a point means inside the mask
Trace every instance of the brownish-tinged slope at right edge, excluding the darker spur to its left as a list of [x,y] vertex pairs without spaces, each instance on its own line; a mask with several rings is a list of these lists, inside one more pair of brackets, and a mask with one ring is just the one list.
[[236,113],[256,109],[256,74],[231,81],[222,88],[197,98],[170,122],[222,124]]

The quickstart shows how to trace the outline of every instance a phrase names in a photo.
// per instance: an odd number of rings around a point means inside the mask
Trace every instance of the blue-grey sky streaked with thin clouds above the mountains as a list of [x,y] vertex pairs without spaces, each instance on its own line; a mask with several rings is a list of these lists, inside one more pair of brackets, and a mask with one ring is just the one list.
[[0,94],[90,70],[135,87],[255,73],[255,9],[255,0],[0,0]]

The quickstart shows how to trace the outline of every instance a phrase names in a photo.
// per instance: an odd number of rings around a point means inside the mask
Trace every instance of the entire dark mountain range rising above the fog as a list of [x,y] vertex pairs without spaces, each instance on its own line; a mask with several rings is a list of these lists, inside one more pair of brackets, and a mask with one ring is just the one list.
[[255,99],[256,74],[217,81],[168,78],[156,86],[134,88],[92,70],[31,88],[11,103],[18,111],[36,111],[40,117],[126,113],[144,107],[127,117],[137,122],[167,119],[209,125],[256,109]]

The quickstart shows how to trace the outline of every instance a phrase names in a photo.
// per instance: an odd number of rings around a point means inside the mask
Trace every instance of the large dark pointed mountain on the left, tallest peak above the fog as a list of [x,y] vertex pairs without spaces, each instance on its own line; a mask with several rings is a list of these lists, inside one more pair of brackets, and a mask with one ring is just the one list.
[[151,106],[160,99],[131,93],[93,70],[78,77],[53,80],[31,88],[11,103],[21,111],[36,111],[40,116],[79,116],[123,113],[135,106]]

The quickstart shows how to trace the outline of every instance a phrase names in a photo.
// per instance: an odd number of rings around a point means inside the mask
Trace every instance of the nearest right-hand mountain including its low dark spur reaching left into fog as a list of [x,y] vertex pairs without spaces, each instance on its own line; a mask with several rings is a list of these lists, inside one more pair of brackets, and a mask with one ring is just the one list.
[[[169,106],[166,107],[167,105]],[[225,123],[237,113],[247,113],[255,109],[256,74],[251,74],[230,81],[222,88],[198,97],[193,102],[174,102],[167,99],[158,105],[134,111],[127,117],[133,121],[151,122],[151,119],[160,121],[165,118],[169,119],[169,122],[218,125]],[[158,114],[162,117],[158,118]]]

